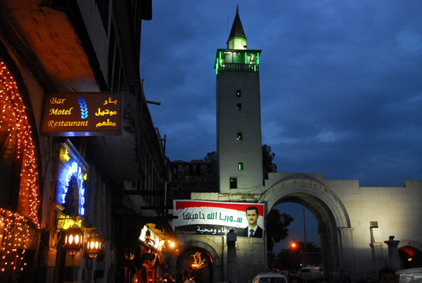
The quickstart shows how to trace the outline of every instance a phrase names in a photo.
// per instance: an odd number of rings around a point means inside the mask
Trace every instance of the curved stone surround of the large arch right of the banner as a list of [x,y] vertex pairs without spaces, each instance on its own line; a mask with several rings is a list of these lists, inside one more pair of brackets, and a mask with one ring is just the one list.
[[318,221],[328,282],[354,278],[353,229],[345,206],[324,183],[306,174],[284,177],[264,192],[260,203],[270,209],[283,202],[306,206]]

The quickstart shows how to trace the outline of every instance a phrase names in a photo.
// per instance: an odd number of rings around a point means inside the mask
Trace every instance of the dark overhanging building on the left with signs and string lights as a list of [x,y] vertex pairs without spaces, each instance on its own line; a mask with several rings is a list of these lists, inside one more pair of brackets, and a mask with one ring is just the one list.
[[149,283],[177,239],[139,77],[151,1],[2,1],[0,13],[0,281]]

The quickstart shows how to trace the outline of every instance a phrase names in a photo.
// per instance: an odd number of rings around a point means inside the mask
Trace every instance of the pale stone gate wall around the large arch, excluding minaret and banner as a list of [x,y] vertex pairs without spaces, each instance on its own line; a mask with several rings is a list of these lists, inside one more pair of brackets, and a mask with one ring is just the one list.
[[[330,282],[346,276],[375,277],[379,268],[389,264],[384,241],[390,236],[399,241],[398,247],[422,251],[422,181],[405,181],[403,187],[360,187],[359,180],[324,180],[319,173],[269,173],[263,194],[192,192],[191,199],[266,203],[266,213],[283,202],[306,206],[319,222],[324,268]],[[195,236],[186,236],[186,242],[191,237]],[[215,282],[222,282],[226,279],[225,237],[196,237],[195,241],[219,246],[216,251],[221,253],[221,277],[215,270]],[[265,246],[264,239],[238,238],[238,282],[247,282],[267,269]]]

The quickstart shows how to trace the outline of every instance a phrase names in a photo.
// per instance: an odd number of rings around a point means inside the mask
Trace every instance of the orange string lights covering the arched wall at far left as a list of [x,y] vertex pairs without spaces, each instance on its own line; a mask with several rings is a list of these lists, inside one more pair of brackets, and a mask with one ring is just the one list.
[[0,161],[11,169],[11,182],[4,189],[18,194],[16,211],[0,208],[0,271],[5,272],[23,270],[26,265],[25,250],[34,238],[32,232],[39,229],[39,187],[31,127],[16,82],[4,62],[0,70],[0,112]]

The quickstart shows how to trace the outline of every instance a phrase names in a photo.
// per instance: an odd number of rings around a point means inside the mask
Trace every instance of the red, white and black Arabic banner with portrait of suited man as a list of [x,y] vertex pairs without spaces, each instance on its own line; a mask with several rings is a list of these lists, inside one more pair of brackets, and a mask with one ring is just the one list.
[[233,229],[237,237],[262,238],[264,234],[263,203],[174,200],[173,206],[177,233],[224,236]]

